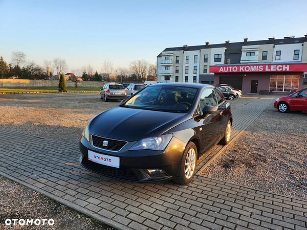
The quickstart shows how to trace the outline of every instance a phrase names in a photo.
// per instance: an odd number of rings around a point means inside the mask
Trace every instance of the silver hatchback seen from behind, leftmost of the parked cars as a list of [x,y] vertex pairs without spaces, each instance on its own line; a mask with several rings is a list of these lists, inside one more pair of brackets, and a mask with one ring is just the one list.
[[100,88],[100,99],[108,101],[109,99],[126,99],[127,93],[123,85],[108,83]]

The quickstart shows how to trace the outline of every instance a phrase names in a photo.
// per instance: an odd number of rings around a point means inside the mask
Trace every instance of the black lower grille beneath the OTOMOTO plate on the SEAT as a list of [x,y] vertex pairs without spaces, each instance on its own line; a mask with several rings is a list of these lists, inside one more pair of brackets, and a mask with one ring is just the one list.
[[90,169],[94,172],[97,172],[105,176],[109,176],[109,177],[113,177],[117,179],[123,179],[123,180],[139,181],[139,178],[130,168],[109,167],[109,166],[105,166],[105,165],[101,165],[101,164],[92,162],[91,160],[88,160],[85,157],[82,160],[82,165],[87,169]]

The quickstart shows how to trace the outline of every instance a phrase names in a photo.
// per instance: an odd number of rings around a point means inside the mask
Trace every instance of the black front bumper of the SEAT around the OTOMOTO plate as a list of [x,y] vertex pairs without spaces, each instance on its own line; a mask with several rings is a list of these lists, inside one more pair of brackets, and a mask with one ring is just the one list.
[[[186,143],[172,137],[163,151],[128,150],[136,142],[127,143],[120,151],[111,152],[95,148],[83,136],[80,138],[80,164],[93,172],[128,181],[161,181],[169,180],[178,175],[182,154]],[[114,168],[92,162],[88,159],[89,150],[96,153],[120,158],[120,167]],[[165,173],[149,174],[147,169],[160,169]]]

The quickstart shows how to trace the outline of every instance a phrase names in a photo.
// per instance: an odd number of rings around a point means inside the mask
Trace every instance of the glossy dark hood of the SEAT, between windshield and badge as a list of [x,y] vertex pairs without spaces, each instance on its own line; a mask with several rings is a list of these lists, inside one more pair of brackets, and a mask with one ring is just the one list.
[[115,107],[98,114],[89,124],[91,134],[110,139],[137,141],[159,136],[190,119],[190,113],[172,113]]

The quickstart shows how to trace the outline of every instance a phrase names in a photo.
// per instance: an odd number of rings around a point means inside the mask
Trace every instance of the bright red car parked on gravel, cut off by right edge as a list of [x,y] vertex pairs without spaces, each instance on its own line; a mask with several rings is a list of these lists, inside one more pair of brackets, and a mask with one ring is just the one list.
[[289,112],[289,110],[307,111],[307,88],[296,91],[295,93],[277,98],[274,107],[279,112]]

